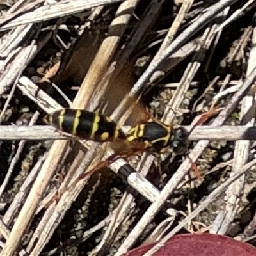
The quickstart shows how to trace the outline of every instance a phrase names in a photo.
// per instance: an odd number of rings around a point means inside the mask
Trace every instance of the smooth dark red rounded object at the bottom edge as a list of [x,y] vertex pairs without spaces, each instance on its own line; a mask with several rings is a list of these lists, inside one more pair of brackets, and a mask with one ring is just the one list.
[[[122,256],[142,256],[155,244],[140,246]],[[172,237],[154,256],[256,256],[256,248],[227,236],[185,234]]]

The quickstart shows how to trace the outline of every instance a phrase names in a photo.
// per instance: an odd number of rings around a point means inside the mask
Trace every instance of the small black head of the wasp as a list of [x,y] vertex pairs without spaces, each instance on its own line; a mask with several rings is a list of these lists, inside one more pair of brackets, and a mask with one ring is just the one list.
[[183,127],[175,129],[170,146],[176,154],[183,154],[188,148],[188,132]]

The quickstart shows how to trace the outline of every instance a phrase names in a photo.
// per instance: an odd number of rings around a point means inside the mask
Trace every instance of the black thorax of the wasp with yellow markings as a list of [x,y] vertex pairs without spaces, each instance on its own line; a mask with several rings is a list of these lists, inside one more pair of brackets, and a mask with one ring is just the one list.
[[160,121],[150,119],[147,123],[132,127],[127,140],[143,142],[146,149],[160,151],[169,146],[171,138],[171,125],[165,125]]

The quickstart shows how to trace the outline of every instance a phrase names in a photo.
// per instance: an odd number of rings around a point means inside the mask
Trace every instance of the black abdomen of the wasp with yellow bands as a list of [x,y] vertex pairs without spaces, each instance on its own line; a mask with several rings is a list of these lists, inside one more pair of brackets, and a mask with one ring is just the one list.
[[86,110],[60,109],[44,117],[44,122],[63,132],[97,142],[125,139],[125,134],[111,118]]

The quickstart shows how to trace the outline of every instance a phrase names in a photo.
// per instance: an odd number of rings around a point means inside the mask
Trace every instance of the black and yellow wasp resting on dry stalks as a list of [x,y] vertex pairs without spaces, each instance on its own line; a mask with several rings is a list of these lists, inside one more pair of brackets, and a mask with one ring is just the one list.
[[[44,117],[44,122],[81,139],[113,143],[121,141],[122,154],[143,150],[159,152],[169,146],[179,153],[187,145],[186,130],[182,127],[174,129],[172,125],[166,125],[153,118],[132,126],[127,134],[108,116],[82,109],[67,108],[54,111]],[[119,153],[120,150],[117,154]]]

